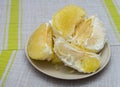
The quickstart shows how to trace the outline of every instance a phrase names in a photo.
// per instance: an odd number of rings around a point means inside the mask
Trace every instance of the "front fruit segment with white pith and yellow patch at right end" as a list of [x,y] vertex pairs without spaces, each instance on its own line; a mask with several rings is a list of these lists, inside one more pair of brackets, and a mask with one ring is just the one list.
[[91,73],[100,67],[100,56],[72,46],[62,38],[56,38],[54,52],[67,66],[79,72]]

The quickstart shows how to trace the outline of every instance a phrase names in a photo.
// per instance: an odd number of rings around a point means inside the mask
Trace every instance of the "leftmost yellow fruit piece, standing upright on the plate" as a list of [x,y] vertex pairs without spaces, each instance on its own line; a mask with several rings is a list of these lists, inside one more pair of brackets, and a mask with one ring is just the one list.
[[32,59],[50,60],[52,44],[52,29],[43,23],[28,41],[28,54]]

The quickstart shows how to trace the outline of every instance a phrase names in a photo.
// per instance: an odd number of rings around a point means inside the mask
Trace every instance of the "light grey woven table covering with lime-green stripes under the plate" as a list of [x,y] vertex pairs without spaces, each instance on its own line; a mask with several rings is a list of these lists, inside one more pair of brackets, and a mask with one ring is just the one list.
[[[104,23],[111,61],[100,73],[83,80],[59,80],[38,72],[24,47],[29,35],[68,4],[85,8]],[[120,0],[0,0],[1,87],[120,87]]]

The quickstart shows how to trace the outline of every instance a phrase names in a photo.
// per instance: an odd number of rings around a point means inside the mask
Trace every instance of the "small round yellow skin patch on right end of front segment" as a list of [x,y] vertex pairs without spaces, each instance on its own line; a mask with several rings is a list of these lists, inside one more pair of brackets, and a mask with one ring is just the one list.
[[97,58],[86,57],[82,58],[81,61],[82,68],[86,73],[95,72],[100,67],[100,61]]

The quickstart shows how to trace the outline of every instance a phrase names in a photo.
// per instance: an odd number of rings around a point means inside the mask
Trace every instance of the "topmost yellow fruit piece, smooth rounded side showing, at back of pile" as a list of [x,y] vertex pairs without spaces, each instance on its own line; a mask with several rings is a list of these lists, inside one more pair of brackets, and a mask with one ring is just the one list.
[[85,14],[81,7],[68,5],[53,16],[52,25],[63,37],[68,37],[74,32],[75,26],[84,18]]

